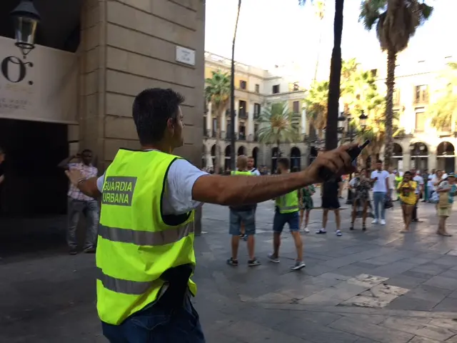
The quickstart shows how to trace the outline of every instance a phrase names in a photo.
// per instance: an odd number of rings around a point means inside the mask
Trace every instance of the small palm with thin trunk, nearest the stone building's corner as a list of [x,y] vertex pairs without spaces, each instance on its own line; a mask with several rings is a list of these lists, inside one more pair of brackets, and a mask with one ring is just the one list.
[[[206,101],[211,102],[211,106],[216,111],[216,166],[215,173],[219,174],[221,167],[221,117],[225,116],[227,104],[230,95],[230,77],[229,74],[221,71],[212,71],[212,76],[205,80],[205,97]],[[211,116],[211,113],[208,114]],[[234,149],[232,147],[232,149]]]

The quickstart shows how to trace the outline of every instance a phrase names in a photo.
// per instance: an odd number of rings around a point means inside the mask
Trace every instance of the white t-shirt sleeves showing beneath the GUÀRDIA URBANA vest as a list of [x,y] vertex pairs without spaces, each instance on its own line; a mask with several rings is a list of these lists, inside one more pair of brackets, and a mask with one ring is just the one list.
[[[192,188],[199,177],[208,175],[194,164],[185,159],[176,159],[169,169],[166,177],[166,192],[164,192],[164,214],[184,214],[196,209],[202,203],[192,199]],[[105,174],[97,179],[97,188],[103,189]]]

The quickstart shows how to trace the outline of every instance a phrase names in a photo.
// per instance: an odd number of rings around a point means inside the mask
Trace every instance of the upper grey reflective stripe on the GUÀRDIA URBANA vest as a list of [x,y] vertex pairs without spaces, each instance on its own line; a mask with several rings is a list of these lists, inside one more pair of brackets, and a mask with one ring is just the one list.
[[119,227],[99,226],[99,236],[111,242],[123,242],[136,245],[158,246],[178,242],[180,239],[194,233],[194,222],[173,227],[164,231],[139,231],[121,229]]

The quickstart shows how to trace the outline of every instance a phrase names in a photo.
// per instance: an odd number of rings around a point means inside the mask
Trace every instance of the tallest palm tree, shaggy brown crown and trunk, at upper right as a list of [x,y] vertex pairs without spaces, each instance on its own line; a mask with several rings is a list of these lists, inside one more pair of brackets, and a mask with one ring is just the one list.
[[391,164],[393,154],[393,90],[397,54],[431,15],[433,7],[421,0],[363,0],[360,20],[369,31],[376,24],[381,49],[387,51],[386,148],[384,163]]

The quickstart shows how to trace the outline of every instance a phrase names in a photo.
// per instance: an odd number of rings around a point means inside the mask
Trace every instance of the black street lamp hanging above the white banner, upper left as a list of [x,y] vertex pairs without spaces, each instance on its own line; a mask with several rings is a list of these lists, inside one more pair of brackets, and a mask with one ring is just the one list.
[[24,58],[35,47],[36,26],[41,16],[31,0],[21,0],[21,3],[11,11],[14,17],[16,46],[21,49]]

